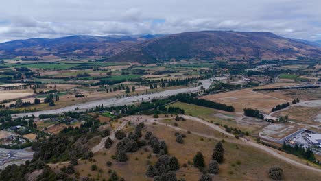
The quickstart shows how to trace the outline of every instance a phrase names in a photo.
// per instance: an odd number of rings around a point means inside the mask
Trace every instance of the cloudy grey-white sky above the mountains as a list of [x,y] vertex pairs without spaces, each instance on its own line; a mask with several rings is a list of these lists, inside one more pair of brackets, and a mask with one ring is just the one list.
[[202,30],[321,40],[320,7],[321,0],[3,0],[0,42]]

